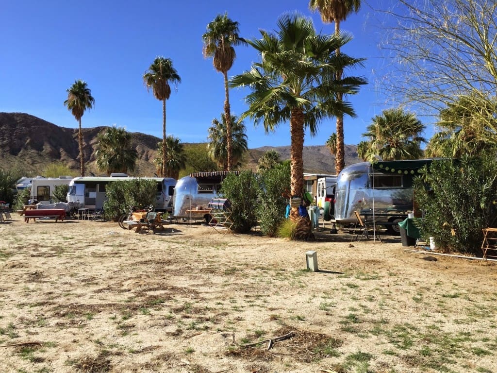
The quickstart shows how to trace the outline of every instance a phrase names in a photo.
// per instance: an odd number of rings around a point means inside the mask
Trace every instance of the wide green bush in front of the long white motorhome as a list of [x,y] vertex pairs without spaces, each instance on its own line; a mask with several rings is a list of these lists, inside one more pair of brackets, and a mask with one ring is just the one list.
[[133,179],[111,182],[107,185],[103,204],[105,215],[117,219],[128,211],[129,206],[147,209],[156,198],[157,182],[154,180]]

